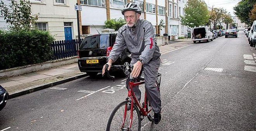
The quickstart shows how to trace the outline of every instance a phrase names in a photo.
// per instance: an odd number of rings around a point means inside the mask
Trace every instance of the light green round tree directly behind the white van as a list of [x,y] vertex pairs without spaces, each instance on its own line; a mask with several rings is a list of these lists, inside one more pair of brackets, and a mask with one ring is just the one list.
[[209,12],[206,3],[202,0],[189,0],[184,8],[185,15],[181,17],[182,25],[199,27],[206,25],[209,20]]

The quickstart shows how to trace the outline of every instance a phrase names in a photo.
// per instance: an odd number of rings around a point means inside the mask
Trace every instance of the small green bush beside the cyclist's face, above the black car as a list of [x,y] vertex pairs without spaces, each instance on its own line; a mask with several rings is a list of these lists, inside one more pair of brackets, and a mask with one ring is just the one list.
[[105,28],[118,30],[120,27],[122,27],[125,24],[126,24],[126,22],[123,18],[119,18],[119,19],[115,18],[115,19],[111,19],[111,20],[106,20]]

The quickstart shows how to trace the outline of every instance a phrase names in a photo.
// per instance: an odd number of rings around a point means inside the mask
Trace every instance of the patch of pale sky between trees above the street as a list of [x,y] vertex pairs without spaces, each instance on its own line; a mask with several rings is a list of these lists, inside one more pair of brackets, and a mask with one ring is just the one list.
[[233,7],[235,7],[239,1],[241,0],[204,0],[208,7],[226,9],[232,16],[234,16]]

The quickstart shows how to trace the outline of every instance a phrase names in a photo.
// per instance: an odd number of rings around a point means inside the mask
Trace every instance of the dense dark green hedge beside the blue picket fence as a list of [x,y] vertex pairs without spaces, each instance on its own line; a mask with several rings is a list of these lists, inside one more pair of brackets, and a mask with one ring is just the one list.
[[52,57],[54,38],[40,30],[0,30],[0,70],[46,62]]

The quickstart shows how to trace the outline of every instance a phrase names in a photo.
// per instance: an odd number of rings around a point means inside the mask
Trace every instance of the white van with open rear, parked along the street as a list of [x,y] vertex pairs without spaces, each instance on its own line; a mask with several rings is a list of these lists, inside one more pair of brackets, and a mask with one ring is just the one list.
[[192,40],[193,42],[201,42],[206,41],[209,42],[209,40],[213,41],[213,32],[209,29],[209,27],[195,27],[192,30]]

